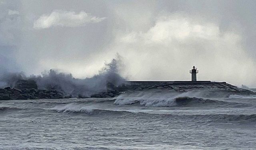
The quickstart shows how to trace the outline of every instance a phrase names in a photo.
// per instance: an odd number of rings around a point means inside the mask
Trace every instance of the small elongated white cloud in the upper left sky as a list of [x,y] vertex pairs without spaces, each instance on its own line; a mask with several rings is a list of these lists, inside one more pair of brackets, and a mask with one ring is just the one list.
[[50,15],[43,14],[34,22],[34,28],[43,29],[53,26],[67,26],[77,27],[85,26],[88,23],[98,23],[106,19],[105,17],[91,16],[90,14],[81,11],[80,13],[66,12],[66,11],[54,11]]

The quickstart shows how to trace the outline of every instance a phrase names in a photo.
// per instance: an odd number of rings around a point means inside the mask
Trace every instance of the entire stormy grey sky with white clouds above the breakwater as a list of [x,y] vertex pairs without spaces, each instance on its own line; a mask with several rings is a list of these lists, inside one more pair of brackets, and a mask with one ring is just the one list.
[[0,74],[98,74],[256,87],[255,0],[0,0]]

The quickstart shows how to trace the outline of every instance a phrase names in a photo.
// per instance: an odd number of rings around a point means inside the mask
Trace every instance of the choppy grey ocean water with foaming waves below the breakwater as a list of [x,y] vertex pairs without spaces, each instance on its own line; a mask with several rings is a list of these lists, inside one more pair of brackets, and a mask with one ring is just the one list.
[[0,101],[0,149],[255,150],[256,97],[130,91]]

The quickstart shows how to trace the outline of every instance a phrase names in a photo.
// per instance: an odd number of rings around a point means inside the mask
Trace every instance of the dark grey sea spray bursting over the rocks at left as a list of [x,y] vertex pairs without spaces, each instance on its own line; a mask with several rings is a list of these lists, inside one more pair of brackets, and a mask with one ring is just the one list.
[[25,76],[24,73],[6,73],[0,76],[0,86],[13,88],[18,80],[34,80],[39,89],[42,90],[59,90],[65,95],[72,97],[90,97],[92,94],[107,91],[107,83],[114,86],[122,84],[125,79],[122,78],[120,70],[122,69],[122,58],[117,54],[116,58],[110,63],[105,63],[105,66],[99,71],[99,74],[92,78],[78,79],[72,74],[59,72],[51,69],[48,72],[43,72],[39,76]]

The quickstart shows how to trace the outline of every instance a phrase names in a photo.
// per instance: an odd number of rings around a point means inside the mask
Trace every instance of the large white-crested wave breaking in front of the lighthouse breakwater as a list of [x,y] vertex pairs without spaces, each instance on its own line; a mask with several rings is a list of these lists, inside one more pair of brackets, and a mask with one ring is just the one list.
[[[114,104],[131,105],[140,104],[152,107],[172,107],[172,106],[208,106],[229,105],[229,106],[245,106],[243,103],[224,102],[221,100],[210,100],[202,98],[202,92],[159,92],[159,91],[143,91],[143,92],[126,92],[116,97]],[[210,105],[209,105],[210,106]]]

